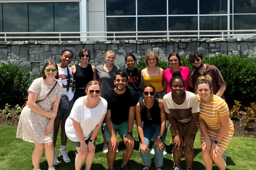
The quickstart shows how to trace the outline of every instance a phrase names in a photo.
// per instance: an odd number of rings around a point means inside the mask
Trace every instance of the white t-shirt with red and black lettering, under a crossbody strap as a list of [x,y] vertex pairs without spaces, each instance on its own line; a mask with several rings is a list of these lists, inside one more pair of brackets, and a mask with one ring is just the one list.
[[[70,79],[71,82],[69,84],[69,89],[68,89],[68,100],[72,100],[74,97],[74,93],[72,92],[72,85],[73,85],[73,76],[72,76],[72,71],[70,69],[70,67],[68,67],[69,69],[69,74],[70,74]],[[63,87],[63,94],[67,95],[67,80],[68,80],[68,69],[67,67],[62,69],[58,66],[58,70],[59,70],[59,79],[56,79],[58,82],[60,82],[60,84],[62,84]]]

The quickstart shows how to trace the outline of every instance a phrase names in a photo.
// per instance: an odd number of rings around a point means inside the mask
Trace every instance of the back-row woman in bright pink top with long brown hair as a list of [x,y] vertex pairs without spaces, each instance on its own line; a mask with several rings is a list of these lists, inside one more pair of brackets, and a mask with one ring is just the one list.
[[168,65],[169,69],[164,70],[164,89],[167,88],[167,93],[172,92],[170,88],[170,80],[172,78],[172,74],[176,71],[179,71],[182,75],[182,78],[185,82],[184,90],[188,91],[188,85],[192,86],[192,79],[190,77],[190,70],[188,67],[182,67],[180,62],[180,55],[178,53],[171,53],[168,57]]

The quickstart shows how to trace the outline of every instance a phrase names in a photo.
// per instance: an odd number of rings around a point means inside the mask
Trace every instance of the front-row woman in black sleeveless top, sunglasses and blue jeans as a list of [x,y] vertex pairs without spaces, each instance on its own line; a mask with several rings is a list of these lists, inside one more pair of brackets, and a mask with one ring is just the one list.
[[164,112],[163,100],[155,98],[155,92],[153,85],[145,85],[142,89],[144,99],[137,103],[135,111],[140,136],[139,152],[145,165],[143,170],[149,170],[151,167],[149,144],[154,133],[158,135],[154,143],[154,162],[157,170],[161,170],[160,167],[163,166],[163,147],[167,133],[166,113]]

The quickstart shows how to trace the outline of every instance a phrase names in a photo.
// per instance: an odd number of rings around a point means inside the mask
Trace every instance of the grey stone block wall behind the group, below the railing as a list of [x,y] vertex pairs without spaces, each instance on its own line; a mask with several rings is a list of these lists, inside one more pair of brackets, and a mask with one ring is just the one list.
[[181,57],[193,51],[213,56],[222,52],[224,55],[256,56],[256,39],[252,38],[199,38],[199,39],[151,39],[151,40],[120,40],[120,41],[0,41],[0,63],[8,63],[23,67],[28,72],[38,74],[48,60],[60,62],[63,49],[73,51],[70,64],[78,63],[78,54],[82,48],[91,52],[91,63],[95,66],[105,63],[104,54],[107,50],[116,53],[115,65],[125,67],[124,56],[132,53],[137,58],[145,59],[148,51],[156,51],[161,60],[168,61],[172,52]]

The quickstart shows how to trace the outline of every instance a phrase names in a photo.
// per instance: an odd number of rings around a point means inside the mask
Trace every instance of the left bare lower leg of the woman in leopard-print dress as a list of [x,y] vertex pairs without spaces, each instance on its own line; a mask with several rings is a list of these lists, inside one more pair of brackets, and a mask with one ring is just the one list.
[[35,143],[35,149],[32,152],[32,164],[34,166],[34,169],[39,169],[43,151],[44,144]]

